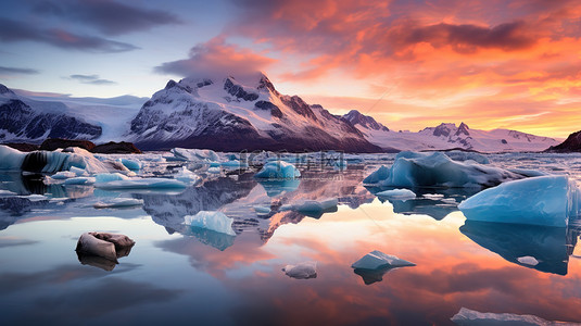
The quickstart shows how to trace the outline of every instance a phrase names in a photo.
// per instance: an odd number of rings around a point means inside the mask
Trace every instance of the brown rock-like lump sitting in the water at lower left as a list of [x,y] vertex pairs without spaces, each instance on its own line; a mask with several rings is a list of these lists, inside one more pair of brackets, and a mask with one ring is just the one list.
[[134,244],[135,241],[125,235],[85,233],[78,238],[76,251],[117,262],[117,258],[129,254]]

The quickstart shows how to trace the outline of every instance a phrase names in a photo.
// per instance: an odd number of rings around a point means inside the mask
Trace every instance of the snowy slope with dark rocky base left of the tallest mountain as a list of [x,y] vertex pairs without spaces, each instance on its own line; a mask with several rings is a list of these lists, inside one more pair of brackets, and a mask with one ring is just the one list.
[[11,90],[0,84],[0,142],[47,138],[118,141],[146,99],[70,98]]

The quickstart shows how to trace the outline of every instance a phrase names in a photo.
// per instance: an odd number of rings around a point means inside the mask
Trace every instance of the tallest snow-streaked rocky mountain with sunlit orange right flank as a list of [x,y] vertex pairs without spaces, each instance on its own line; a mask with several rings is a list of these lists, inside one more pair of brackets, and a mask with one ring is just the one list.
[[381,151],[352,124],[279,93],[258,73],[245,80],[169,80],[143,104],[126,137],[142,149]]

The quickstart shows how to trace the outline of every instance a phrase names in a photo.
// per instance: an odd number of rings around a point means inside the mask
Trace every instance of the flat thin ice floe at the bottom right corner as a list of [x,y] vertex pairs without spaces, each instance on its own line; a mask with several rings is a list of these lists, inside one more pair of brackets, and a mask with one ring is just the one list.
[[508,313],[482,313],[476,310],[462,308],[452,318],[454,324],[459,326],[472,325],[522,325],[522,326],[567,326],[579,325],[578,323],[565,323],[545,321],[533,315],[517,315]]

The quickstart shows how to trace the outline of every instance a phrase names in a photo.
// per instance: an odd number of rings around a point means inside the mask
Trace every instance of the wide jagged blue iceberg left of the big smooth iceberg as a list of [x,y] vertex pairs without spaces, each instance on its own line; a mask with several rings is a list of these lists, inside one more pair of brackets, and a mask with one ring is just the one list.
[[471,161],[456,162],[444,153],[401,152],[393,165],[379,167],[363,183],[389,187],[492,187],[527,177]]

